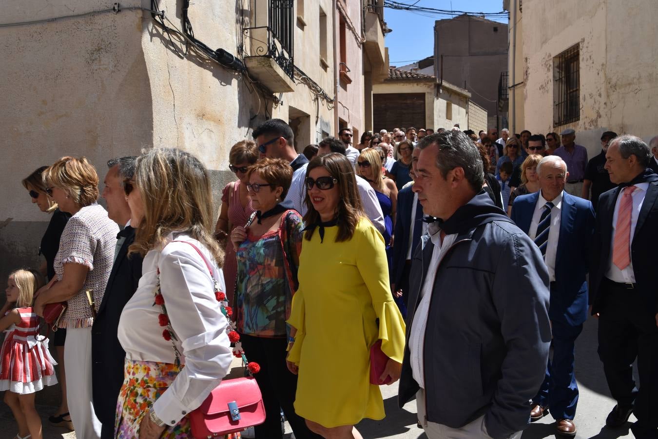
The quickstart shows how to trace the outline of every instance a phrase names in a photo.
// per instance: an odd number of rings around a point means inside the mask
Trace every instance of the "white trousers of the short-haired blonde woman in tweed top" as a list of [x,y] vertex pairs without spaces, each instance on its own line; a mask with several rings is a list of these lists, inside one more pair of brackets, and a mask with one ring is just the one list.
[[101,422],[91,403],[91,326],[66,328],[64,363],[68,410],[76,438],[99,439]]

